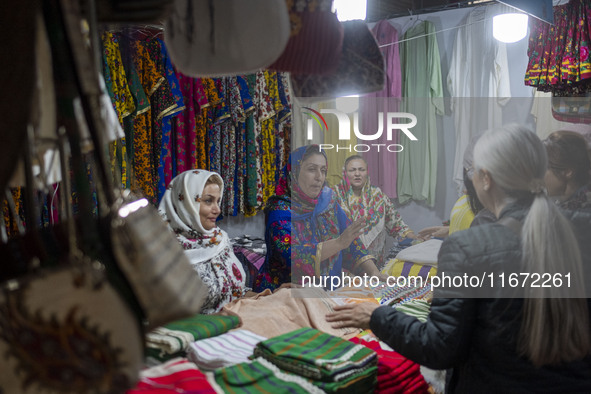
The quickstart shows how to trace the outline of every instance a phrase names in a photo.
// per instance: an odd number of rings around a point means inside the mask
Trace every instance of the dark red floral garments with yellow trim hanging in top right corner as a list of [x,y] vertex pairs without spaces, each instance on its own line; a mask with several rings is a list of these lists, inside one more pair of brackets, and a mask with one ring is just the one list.
[[530,18],[525,84],[566,95],[591,90],[591,5],[571,0],[556,6],[554,25]]

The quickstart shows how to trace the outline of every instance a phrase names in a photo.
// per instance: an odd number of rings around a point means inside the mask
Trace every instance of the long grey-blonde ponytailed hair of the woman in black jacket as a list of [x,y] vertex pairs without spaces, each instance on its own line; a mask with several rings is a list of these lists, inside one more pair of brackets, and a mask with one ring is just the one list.
[[[571,224],[542,187],[547,161],[542,141],[515,124],[486,132],[474,148],[475,168],[486,169],[510,201],[533,199],[521,229],[521,271],[583,278]],[[534,365],[574,361],[590,353],[589,310],[584,283],[579,282],[575,289],[543,288],[524,300],[517,350]]]

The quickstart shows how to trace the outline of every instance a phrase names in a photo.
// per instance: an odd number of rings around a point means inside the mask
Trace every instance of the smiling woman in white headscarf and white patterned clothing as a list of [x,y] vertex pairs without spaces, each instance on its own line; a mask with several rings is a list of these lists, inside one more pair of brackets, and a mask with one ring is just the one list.
[[222,190],[224,182],[217,173],[185,171],[170,182],[158,208],[209,288],[202,313],[218,312],[246,292],[242,264],[228,234],[216,224]]

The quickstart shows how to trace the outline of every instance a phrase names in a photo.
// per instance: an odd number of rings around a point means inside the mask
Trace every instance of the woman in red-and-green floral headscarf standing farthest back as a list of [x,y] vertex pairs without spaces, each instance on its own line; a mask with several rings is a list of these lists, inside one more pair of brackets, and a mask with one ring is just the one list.
[[359,238],[376,257],[378,266],[384,263],[387,234],[394,238],[416,238],[388,196],[371,185],[363,157],[354,155],[345,160],[343,180],[334,191],[347,216],[365,221],[365,233]]

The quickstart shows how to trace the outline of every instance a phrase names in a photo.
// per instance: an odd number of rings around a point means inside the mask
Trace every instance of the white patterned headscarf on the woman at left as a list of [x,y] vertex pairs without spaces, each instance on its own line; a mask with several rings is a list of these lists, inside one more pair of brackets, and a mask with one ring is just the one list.
[[[199,217],[205,183],[219,174],[206,170],[189,170],[177,175],[166,188],[158,211],[174,231],[185,250],[202,249],[202,260],[208,260],[229,245],[227,234],[219,227],[205,230]],[[224,190],[222,180],[221,191]]]

